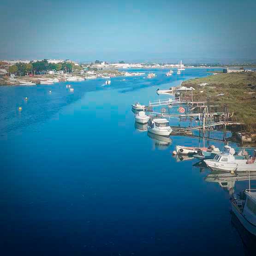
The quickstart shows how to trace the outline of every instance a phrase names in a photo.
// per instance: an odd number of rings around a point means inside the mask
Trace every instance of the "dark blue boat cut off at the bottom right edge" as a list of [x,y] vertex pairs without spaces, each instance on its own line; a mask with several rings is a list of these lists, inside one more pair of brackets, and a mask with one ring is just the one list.
[[230,199],[232,211],[241,224],[256,236],[256,189],[246,189]]

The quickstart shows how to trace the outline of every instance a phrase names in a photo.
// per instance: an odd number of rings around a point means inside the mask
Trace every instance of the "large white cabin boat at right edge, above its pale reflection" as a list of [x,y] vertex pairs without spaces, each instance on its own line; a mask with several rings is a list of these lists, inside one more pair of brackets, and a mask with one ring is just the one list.
[[229,153],[216,155],[214,159],[204,160],[207,166],[214,171],[225,172],[246,172],[256,171],[256,151],[253,157],[244,155],[242,159],[235,157],[235,150],[230,149]]

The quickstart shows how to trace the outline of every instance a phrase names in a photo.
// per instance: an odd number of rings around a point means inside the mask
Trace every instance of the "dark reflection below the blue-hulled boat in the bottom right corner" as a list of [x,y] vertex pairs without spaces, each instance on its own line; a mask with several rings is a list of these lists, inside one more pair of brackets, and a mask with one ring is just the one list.
[[242,239],[245,256],[255,256],[256,254],[256,237],[252,235],[238,220],[236,214],[231,211],[231,223],[236,228]]

